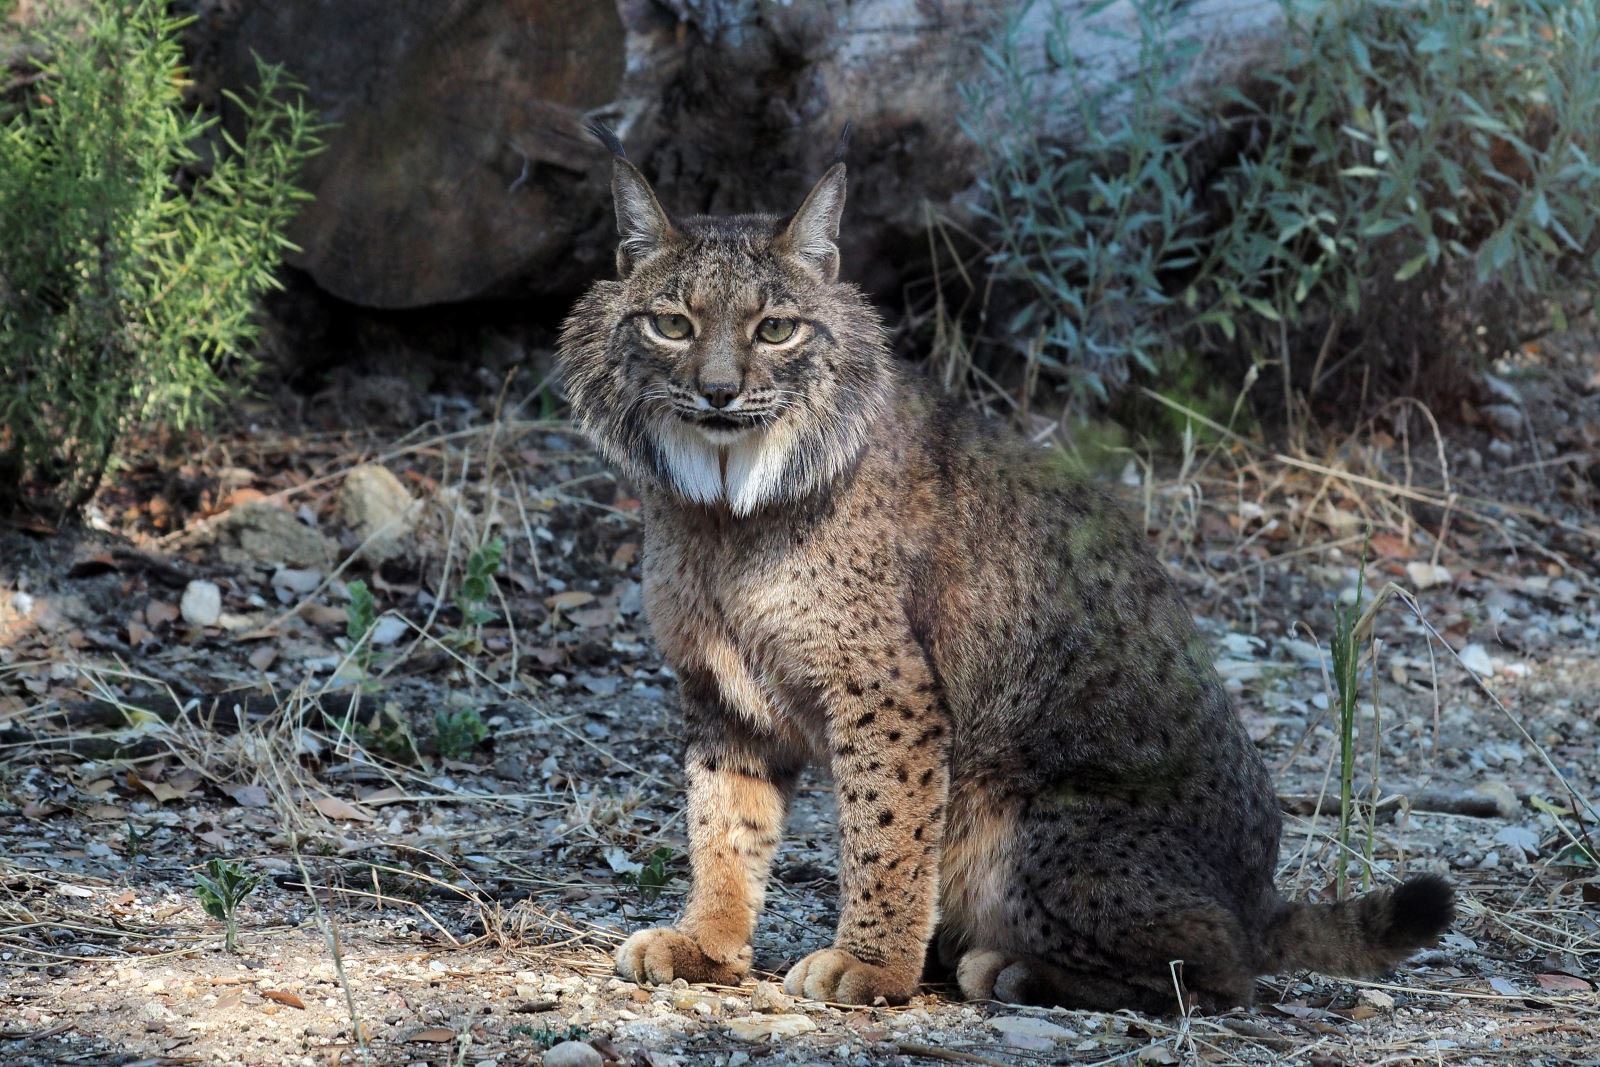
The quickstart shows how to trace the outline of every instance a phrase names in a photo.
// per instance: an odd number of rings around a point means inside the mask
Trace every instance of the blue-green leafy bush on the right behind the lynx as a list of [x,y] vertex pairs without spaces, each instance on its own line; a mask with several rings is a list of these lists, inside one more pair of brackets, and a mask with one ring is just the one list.
[[1173,0],[1136,0],[1141,64],[1115,85],[1074,58],[1109,30],[1059,8],[1043,69],[1021,14],[984,53],[995,334],[1080,398],[1221,350],[1290,358],[1304,389],[1291,355],[1330,333],[1378,363],[1475,336],[1494,355],[1518,317],[1560,326],[1600,291],[1600,0],[1277,2],[1282,66],[1208,112],[1182,104]]

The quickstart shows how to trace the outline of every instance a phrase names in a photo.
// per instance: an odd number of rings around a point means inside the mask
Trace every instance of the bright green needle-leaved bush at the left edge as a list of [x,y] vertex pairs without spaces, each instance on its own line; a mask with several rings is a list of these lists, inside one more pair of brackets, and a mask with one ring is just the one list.
[[227,98],[237,139],[189,109],[166,3],[72,10],[0,110],[0,509],[48,514],[88,501],[130,427],[203,424],[230,395],[318,146],[270,64]]

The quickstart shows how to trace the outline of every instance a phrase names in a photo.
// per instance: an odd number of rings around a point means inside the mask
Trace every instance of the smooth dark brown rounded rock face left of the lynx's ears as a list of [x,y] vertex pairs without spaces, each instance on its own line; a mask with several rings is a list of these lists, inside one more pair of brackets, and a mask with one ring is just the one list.
[[600,205],[571,208],[598,173],[582,115],[622,82],[610,3],[246,0],[219,32],[224,85],[248,82],[259,53],[338,123],[291,232],[291,261],[323,290],[418,307],[592,274],[570,254]]

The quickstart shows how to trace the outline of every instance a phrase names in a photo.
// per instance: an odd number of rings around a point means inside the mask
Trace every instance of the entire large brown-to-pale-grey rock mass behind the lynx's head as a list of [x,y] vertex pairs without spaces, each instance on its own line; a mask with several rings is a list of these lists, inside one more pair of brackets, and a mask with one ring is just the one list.
[[[962,85],[982,77],[1003,19],[1026,11],[1038,91],[1069,91],[1042,54],[1051,10],[1106,30],[1066,45],[1091,80],[1128,80],[1133,0],[240,0],[213,13],[200,51],[230,88],[256,53],[286,64],[338,123],[293,237],[294,262],[347,301],[565,296],[606,270],[610,162],[586,117],[611,123],[685,214],[797,206],[853,122],[846,274],[893,291],[926,250],[925,202],[958,206],[974,187]],[[1197,80],[1232,82],[1280,8],[1190,0],[1176,18],[1206,56]]]

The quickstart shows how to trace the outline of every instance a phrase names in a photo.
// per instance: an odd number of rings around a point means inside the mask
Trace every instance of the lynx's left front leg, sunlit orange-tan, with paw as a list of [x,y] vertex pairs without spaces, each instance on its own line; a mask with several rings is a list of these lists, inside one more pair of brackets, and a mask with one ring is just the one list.
[[750,969],[750,934],[798,763],[688,678],[683,701],[693,886],[678,925],[635,933],[618,949],[616,969],[635,982],[731,985]]

